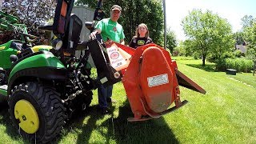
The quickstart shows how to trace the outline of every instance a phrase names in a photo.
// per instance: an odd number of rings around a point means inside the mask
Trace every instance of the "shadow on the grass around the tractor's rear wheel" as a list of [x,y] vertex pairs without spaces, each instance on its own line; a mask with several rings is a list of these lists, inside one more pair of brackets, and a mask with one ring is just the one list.
[[[56,138],[54,138],[54,140],[52,140],[49,143],[59,143],[62,140],[62,138],[66,137],[66,135],[69,134],[70,131],[72,131],[75,128],[82,130],[82,133],[78,135],[78,143],[88,143],[90,139],[90,134],[92,130],[94,130],[94,128],[96,127],[96,121],[103,117],[102,114],[96,113],[96,111],[96,106],[90,106],[88,110],[86,110],[85,112],[74,115],[70,119],[70,121],[66,123],[64,129],[62,130],[62,133],[59,134]],[[9,115],[10,114],[8,112],[7,103],[0,102],[0,124],[6,126],[6,134],[8,134],[13,140],[22,139],[22,142],[25,144],[32,143],[29,142],[26,138],[22,138],[18,134],[18,131],[15,130],[15,128],[10,123]],[[90,119],[86,124],[83,124],[83,121],[86,118],[86,116],[90,116]]]

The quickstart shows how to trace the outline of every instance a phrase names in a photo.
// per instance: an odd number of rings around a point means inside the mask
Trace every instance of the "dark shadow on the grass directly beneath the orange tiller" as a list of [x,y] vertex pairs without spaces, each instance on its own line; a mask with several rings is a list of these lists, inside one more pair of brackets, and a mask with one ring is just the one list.
[[114,138],[117,143],[179,143],[164,118],[127,122],[127,118],[133,116],[126,100],[119,107],[118,118],[114,119]]

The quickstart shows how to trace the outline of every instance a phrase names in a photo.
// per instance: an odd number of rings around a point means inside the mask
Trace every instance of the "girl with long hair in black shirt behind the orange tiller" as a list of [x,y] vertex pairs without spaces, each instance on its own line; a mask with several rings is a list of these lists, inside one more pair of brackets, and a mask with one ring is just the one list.
[[130,47],[133,47],[136,49],[138,46],[146,45],[148,43],[152,42],[152,39],[150,38],[150,31],[148,30],[145,23],[141,23],[138,25],[136,34],[134,35],[134,38],[130,41]]

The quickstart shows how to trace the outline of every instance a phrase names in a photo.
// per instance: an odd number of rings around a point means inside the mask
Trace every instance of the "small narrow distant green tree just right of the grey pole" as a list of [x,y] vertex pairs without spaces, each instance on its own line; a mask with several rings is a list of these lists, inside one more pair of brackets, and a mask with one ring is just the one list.
[[176,36],[174,34],[174,31],[170,30],[170,28],[166,32],[166,47],[170,50],[170,53],[172,54],[174,51],[174,47],[177,46],[177,40]]

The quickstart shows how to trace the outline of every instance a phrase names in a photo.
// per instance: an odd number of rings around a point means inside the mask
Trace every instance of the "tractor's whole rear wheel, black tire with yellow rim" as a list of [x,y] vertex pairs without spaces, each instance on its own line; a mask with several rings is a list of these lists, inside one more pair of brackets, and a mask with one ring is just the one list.
[[14,86],[8,105],[13,126],[30,142],[50,142],[65,124],[66,108],[51,86],[38,82]]

